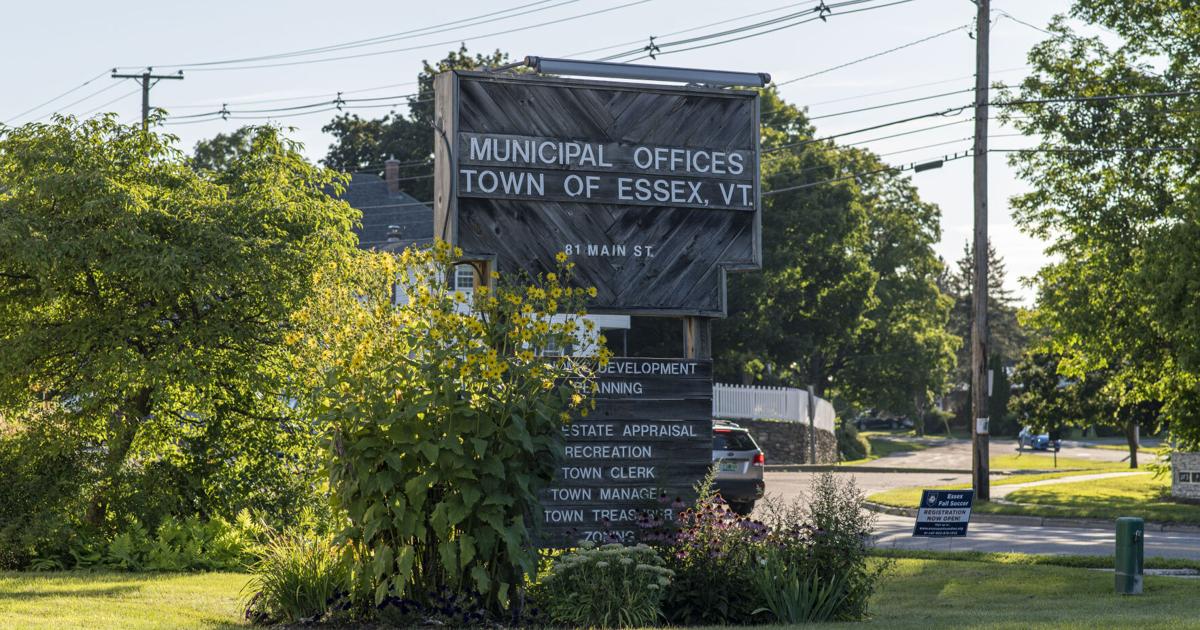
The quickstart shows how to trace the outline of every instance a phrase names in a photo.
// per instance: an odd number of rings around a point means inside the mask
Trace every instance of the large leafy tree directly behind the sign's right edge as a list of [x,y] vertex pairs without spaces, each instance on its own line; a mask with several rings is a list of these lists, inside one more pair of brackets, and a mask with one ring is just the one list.
[[931,248],[937,208],[869,152],[812,142],[804,114],[773,90],[762,110],[763,190],[776,192],[763,200],[762,272],[730,276],[719,376],[923,410],[953,361]]

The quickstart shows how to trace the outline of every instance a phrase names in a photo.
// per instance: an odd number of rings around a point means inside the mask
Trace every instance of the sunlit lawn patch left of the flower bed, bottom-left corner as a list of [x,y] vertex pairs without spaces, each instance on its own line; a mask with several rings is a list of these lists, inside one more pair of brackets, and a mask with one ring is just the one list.
[[0,628],[246,628],[245,574],[0,572]]

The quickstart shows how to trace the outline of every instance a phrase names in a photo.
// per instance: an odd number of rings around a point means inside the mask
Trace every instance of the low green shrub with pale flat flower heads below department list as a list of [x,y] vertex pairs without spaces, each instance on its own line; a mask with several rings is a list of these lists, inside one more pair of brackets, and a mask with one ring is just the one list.
[[546,619],[575,628],[636,628],[662,618],[673,574],[650,547],[590,544],[558,558],[535,595]]

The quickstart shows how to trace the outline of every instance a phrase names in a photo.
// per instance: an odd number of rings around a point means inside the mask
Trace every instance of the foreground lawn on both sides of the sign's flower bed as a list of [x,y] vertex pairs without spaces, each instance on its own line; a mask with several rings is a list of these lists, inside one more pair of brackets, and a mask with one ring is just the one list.
[[[1015,556],[896,559],[868,623],[826,625],[1200,629],[1195,580],[1148,576],[1144,595],[1122,598],[1111,572]],[[0,574],[0,628],[246,628],[245,582],[239,574]]]

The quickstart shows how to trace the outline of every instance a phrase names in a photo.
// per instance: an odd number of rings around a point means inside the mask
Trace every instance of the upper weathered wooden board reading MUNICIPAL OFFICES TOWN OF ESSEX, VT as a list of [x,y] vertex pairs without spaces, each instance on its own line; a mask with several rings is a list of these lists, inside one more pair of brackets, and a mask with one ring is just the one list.
[[505,272],[596,287],[593,312],[725,316],[758,269],[752,90],[445,72],[434,234]]

